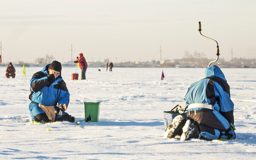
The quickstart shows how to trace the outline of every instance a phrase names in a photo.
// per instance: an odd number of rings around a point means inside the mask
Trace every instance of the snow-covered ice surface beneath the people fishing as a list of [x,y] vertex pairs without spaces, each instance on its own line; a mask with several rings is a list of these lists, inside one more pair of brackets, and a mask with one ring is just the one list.
[[[15,67],[15,79],[6,79],[5,69],[0,66],[0,159],[255,159],[255,69],[221,68],[235,104],[232,141],[164,138],[163,111],[185,103],[204,68],[88,68],[81,81],[71,80],[75,67],[63,67],[67,113],[80,125],[32,124],[29,80],[42,67],[26,67],[27,80],[22,67]],[[85,122],[85,101],[102,101],[99,122]]]

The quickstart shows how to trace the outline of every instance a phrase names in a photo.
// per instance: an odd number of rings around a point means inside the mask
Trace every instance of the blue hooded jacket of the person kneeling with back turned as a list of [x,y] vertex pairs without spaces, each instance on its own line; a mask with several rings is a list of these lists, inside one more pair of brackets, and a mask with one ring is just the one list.
[[186,107],[193,103],[211,104],[229,123],[234,124],[234,103],[223,72],[213,65],[205,70],[206,78],[193,83],[185,95]]

